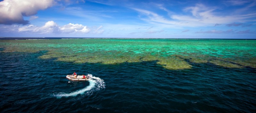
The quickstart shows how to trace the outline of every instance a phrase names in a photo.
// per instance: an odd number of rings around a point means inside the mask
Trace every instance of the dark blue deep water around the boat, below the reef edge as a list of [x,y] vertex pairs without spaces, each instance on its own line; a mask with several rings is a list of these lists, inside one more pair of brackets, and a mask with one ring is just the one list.
[[[0,112],[256,111],[255,68],[189,60],[185,70],[156,61],[74,64],[38,58],[45,52],[0,52]],[[65,77],[73,72],[98,79],[70,82]]]

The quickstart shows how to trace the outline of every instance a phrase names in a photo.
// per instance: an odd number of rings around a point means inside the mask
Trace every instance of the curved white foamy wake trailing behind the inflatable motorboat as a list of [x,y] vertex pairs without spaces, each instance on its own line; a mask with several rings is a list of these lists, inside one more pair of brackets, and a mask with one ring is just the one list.
[[84,87],[83,89],[80,89],[71,93],[61,92],[54,96],[56,96],[57,98],[61,98],[61,97],[76,96],[77,94],[84,94],[85,92],[87,92],[86,94],[92,94],[95,91],[105,88],[104,80],[100,79],[99,77],[93,77],[92,75],[90,75],[90,79],[88,81],[90,83],[89,86]]

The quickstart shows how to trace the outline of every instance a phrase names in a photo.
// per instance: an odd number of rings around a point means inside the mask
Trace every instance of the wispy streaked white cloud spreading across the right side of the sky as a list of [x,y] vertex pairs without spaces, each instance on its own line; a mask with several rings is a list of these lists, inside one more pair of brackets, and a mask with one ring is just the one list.
[[[250,4],[251,7],[254,4]],[[246,6],[246,7],[249,7]],[[244,22],[252,22],[255,21],[253,18],[256,17],[255,12],[247,11],[241,8],[239,13],[229,13],[224,14],[223,12],[219,12],[221,8],[218,7],[209,7],[204,4],[196,4],[195,6],[190,6],[184,8],[182,13],[180,14],[171,14],[170,18],[166,18],[164,15],[160,13],[155,13],[148,10],[132,8],[135,11],[140,13],[139,17],[141,20],[148,22],[149,24],[159,26],[159,27],[167,27],[167,28],[177,28],[177,27],[200,27],[200,26],[214,26],[221,24],[228,24],[232,22],[244,23]],[[164,11],[168,10],[163,6],[160,7]],[[238,12],[238,11],[237,11]]]

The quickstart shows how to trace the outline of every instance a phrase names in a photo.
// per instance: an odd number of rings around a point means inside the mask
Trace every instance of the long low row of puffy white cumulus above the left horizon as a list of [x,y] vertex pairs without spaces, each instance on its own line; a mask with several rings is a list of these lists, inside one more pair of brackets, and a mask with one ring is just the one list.
[[102,34],[104,30],[102,30],[103,26],[97,28],[88,28],[82,24],[72,24],[69,23],[64,26],[59,26],[54,21],[48,21],[45,23],[44,26],[34,26],[28,25],[19,28],[19,32],[32,32],[32,33],[39,33],[39,34],[71,34],[71,33],[95,33],[95,34]]

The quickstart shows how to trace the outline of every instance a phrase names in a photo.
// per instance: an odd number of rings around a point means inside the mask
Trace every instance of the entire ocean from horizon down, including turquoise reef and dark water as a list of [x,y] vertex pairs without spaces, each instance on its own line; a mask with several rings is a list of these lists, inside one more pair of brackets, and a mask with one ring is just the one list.
[[15,39],[0,40],[2,113],[256,111],[256,40]]

